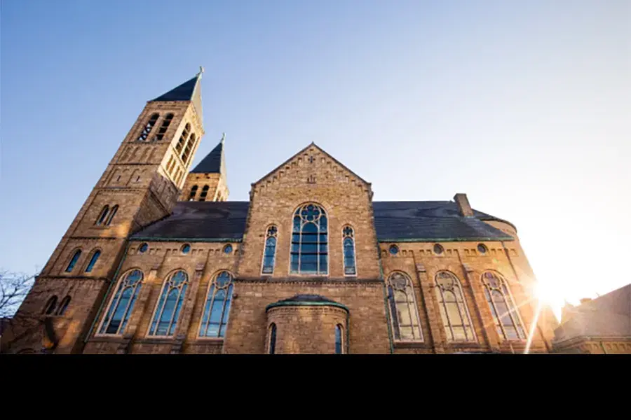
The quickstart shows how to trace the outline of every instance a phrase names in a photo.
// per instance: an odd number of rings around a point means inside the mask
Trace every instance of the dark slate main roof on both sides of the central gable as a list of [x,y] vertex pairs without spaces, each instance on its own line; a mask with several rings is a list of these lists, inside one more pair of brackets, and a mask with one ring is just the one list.
[[[250,202],[178,202],[171,216],[132,239],[238,241],[249,207]],[[480,220],[492,216],[479,211],[474,211],[474,217],[460,216],[455,202],[373,202],[373,207],[379,241],[513,240]]]

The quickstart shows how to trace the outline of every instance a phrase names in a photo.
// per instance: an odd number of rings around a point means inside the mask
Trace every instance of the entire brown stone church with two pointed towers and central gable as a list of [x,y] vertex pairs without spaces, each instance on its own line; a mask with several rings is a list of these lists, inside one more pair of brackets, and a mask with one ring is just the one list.
[[229,200],[223,138],[191,169],[201,76],[144,106],[2,352],[552,351],[515,225],[465,194],[373,201],[311,143]]

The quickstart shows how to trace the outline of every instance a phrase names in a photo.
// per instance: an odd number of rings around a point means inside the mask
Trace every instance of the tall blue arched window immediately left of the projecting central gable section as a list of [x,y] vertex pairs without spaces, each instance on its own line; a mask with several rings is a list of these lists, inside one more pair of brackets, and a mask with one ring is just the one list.
[[224,337],[230,303],[232,301],[232,276],[229,272],[220,272],[208,286],[204,312],[199,328],[200,337]]

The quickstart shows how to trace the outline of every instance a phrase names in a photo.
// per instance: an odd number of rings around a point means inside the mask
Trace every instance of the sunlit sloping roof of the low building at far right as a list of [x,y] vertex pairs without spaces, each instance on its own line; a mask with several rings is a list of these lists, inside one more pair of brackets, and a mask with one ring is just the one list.
[[555,341],[575,337],[631,337],[631,284],[568,310]]

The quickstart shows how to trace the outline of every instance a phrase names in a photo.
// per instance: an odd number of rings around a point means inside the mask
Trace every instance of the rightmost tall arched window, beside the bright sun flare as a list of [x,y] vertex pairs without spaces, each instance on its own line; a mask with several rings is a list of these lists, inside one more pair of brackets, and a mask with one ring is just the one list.
[[501,339],[525,339],[520,314],[515,307],[506,280],[494,272],[482,274],[484,295],[493,313],[495,328]]

